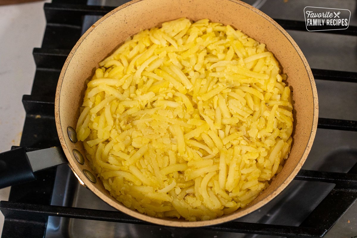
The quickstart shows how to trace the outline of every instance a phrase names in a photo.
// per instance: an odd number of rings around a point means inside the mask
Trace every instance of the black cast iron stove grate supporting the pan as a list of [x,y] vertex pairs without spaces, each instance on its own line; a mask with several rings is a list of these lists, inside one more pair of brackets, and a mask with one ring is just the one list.
[[[60,70],[81,36],[84,16],[101,16],[112,9],[114,7],[89,6],[86,0],[53,0],[44,5],[47,25],[42,47],[33,50],[36,73],[31,95],[22,97],[26,119],[20,146],[36,149],[60,146],[54,119]],[[275,20],[285,29],[306,31],[303,21]],[[357,36],[357,26],[330,33]],[[312,69],[312,72],[319,80],[357,82],[355,72],[321,69]],[[357,121],[319,118],[318,128],[357,131]],[[49,216],[148,224],[121,212],[50,205],[55,174],[56,168],[46,169],[36,173],[36,181],[11,187],[9,201],[0,202],[5,216],[2,238],[44,237]],[[300,226],[227,222],[203,229],[288,238],[323,237],[357,198],[357,164],[348,173],[301,170],[295,179],[336,184]]]

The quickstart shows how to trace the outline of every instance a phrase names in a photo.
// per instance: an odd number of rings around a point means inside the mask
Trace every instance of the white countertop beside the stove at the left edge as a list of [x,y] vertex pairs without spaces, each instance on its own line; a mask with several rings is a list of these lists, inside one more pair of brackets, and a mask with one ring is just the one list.
[[[32,49],[42,44],[44,3],[0,6],[0,152],[20,144],[25,121],[21,99],[31,94],[36,69]],[[10,187],[0,189],[0,200],[7,200],[9,193]],[[0,213],[0,234],[3,223]]]

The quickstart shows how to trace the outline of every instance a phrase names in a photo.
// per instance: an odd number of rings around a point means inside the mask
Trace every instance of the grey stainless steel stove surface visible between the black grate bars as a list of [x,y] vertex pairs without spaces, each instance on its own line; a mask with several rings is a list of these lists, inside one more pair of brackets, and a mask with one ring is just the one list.
[[[91,5],[118,6],[125,1],[88,1]],[[357,25],[356,1],[250,1],[273,19],[305,21],[306,6],[348,9],[350,26]],[[83,31],[99,16],[86,16]],[[300,46],[313,69],[356,72],[357,37],[332,32],[288,30]],[[357,74],[357,73],[356,73]],[[357,83],[316,79],[319,117],[357,121]],[[319,128],[315,142],[303,169],[347,173],[357,163],[357,132]],[[294,180],[278,197],[239,222],[300,226],[306,217],[323,201],[333,183]],[[80,186],[70,169],[57,167],[51,205],[116,211],[91,191]],[[325,213],[329,216],[329,213]],[[322,215],[324,216],[324,215]],[[325,217],[321,217],[325,219]],[[135,223],[135,222],[134,222]],[[50,216],[46,238],[55,237],[280,237],[272,235],[240,234],[214,229],[183,229],[88,219]],[[287,237],[293,237],[286,234]],[[357,202],[336,222],[325,238],[357,236]],[[284,236],[285,237],[285,236]],[[303,234],[301,234],[303,237]],[[306,236],[307,237],[307,236]]]

